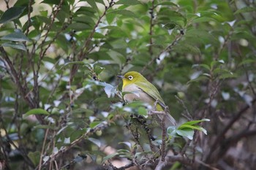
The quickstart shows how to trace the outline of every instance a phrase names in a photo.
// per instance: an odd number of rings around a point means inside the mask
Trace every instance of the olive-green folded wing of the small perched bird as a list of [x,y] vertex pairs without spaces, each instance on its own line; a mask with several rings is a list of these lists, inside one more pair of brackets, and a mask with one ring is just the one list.
[[[145,80],[144,80],[145,81]],[[149,96],[151,96],[151,98],[154,98],[154,100],[158,100],[158,103],[165,108],[165,102],[162,99],[162,97],[160,96],[159,91],[157,90],[156,87],[154,87],[154,85],[152,85],[150,82],[148,82],[148,80],[146,80],[146,82],[135,82],[135,85],[138,86],[138,88],[140,88],[141,90],[143,90],[145,93],[147,93]]]

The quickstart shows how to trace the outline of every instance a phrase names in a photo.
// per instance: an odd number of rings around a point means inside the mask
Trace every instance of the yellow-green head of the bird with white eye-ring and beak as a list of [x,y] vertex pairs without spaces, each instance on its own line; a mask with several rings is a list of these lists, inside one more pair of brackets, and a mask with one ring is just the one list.
[[118,77],[122,78],[123,87],[138,81],[143,81],[145,79],[143,75],[141,75],[138,72],[127,72],[126,74],[124,74],[124,76],[118,76]]

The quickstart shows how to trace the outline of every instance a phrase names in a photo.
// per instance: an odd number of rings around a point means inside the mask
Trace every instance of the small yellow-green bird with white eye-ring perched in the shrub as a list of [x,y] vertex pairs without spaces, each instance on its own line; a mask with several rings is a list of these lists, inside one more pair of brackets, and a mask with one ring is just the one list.
[[[162,112],[157,114],[159,120],[165,119],[165,125],[176,125],[176,120],[170,115],[166,109],[167,105],[160,96],[157,88],[148,82],[145,77],[139,72],[127,72],[124,75],[119,75],[123,80],[122,93],[124,93],[124,101],[143,101],[151,105],[156,111]],[[165,112],[167,111],[167,112]],[[165,117],[164,115],[165,114]]]

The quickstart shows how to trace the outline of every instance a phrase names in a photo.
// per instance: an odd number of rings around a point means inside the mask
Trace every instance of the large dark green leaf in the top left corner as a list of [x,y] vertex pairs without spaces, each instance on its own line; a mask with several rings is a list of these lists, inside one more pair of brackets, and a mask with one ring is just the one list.
[[11,7],[7,9],[3,15],[1,15],[0,23],[7,23],[11,20],[19,18],[26,7]]

